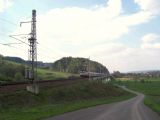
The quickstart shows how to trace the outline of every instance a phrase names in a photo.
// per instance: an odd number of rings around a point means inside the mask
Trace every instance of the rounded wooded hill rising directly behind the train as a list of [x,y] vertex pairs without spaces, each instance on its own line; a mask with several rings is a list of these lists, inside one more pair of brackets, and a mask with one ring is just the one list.
[[88,71],[89,64],[91,72],[109,74],[109,71],[105,66],[86,58],[63,57],[53,63],[52,69],[69,73],[79,73],[80,71]]

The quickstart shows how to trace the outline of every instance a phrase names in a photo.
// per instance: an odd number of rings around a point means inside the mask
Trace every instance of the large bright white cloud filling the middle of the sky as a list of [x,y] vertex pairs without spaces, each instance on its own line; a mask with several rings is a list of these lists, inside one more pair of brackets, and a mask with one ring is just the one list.
[[[83,44],[89,45],[90,43],[113,40],[128,31],[118,22],[112,22],[112,19],[119,16],[121,10],[121,0],[110,0],[106,6],[95,9],[57,8],[48,11],[46,14],[38,15],[37,36],[39,46],[47,46],[53,51],[49,56],[59,58],[69,55],[69,53],[62,51],[62,44],[83,46]],[[24,24],[13,34],[29,32],[30,27]],[[65,46],[63,47],[65,48]],[[43,53],[47,53],[47,51],[43,49]]]

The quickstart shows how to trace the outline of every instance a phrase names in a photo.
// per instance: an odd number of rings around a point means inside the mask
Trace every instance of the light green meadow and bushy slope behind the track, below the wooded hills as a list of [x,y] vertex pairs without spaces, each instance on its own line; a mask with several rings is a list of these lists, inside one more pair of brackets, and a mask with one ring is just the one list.
[[[0,55],[0,84],[6,82],[21,82],[25,81],[25,64],[23,59],[16,57],[6,60],[6,57]],[[17,60],[20,62],[18,63]],[[14,61],[14,62],[13,62]],[[77,76],[71,73],[57,72],[48,69],[38,68],[38,80],[55,80],[60,78],[68,78],[70,76]]]

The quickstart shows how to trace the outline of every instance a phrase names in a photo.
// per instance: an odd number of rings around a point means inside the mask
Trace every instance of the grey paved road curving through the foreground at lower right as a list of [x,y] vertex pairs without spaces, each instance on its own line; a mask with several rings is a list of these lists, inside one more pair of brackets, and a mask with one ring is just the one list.
[[126,101],[86,108],[47,120],[160,120],[158,114],[143,104],[144,95],[136,94]]

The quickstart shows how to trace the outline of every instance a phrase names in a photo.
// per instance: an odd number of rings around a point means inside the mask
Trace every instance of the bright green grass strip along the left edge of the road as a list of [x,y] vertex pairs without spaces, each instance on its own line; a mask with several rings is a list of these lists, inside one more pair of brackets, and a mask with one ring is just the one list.
[[91,106],[108,104],[122,101],[133,97],[132,95],[123,95],[121,97],[100,98],[91,100],[81,100],[61,104],[47,104],[35,107],[24,107],[4,110],[0,113],[2,120],[40,120],[42,118],[53,117],[66,112],[79,110]]

